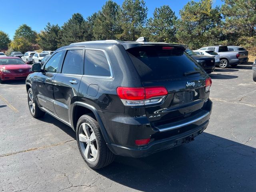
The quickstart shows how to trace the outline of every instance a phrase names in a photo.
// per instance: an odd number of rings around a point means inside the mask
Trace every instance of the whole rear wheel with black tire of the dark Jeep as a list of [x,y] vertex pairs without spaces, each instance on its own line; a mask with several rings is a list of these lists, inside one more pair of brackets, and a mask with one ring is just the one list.
[[100,169],[113,162],[114,154],[106,145],[100,126],[92,114],[79,118],[76,140],[80,154],[90,168]]

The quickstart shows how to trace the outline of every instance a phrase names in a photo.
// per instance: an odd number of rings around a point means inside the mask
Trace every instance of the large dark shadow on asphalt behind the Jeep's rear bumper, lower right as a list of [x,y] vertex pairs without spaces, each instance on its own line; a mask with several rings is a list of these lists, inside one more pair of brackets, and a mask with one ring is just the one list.
[[190,144],[146,158],[118,156],[97,172],[144,192],[256,191],[256,149],[203,133]]

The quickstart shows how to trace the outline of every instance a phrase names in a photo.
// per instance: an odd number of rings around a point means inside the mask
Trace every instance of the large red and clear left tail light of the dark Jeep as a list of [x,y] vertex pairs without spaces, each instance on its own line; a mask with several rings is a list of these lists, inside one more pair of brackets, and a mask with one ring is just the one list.
[[125,106],[143,106],[160,103],[168,94],[165,87],[118,87],[116,89],[118,97]]

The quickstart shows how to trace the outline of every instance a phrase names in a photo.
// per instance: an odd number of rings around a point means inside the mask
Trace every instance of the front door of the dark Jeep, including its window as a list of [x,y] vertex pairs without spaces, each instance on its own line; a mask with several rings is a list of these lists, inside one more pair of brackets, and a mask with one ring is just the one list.
[[40,106],[55,114],[53,106],[54,87],[53,80],[59,70],[63,51],[54,54],[44,66],[44,72],[38,73],[36,79],[37,98]]

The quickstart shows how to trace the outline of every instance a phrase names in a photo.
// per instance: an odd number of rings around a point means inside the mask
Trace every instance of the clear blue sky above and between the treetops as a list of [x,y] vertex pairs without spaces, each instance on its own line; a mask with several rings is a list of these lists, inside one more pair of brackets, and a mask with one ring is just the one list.
[[[123,0],[113,0],[122,5]],[[179,16],[179,10],[190,0],[145,0],[148,7],[148,18],[154,9],[162,5],[169,5]],[[198,0],[195,0],[198,1]],[[84,18],[98,12],[106,0],[8,0],[1,1],[0,30],[13,37],[15,30],[21,24],[27,24],[32,30],[44,30],[47,22],[62,26],[74,13],[81,13]],[[214,0],[214,6],[221,5],[221,0]]]

